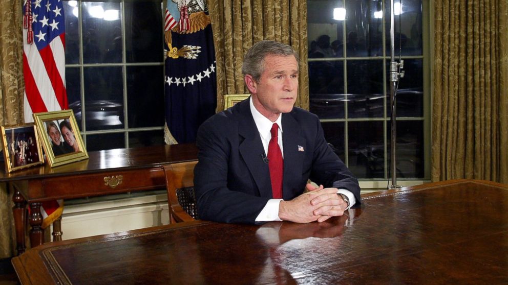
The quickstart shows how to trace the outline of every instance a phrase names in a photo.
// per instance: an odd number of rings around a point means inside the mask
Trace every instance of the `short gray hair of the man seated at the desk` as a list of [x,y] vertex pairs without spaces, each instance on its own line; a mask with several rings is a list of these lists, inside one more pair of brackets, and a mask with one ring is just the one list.
[[243,76],[249,74],[256,82],[259,82],[265,69],[265,58],[268,55],[294,56],[298,63],[298,54],[290,45],[273,40],[262,40],[252,45],[245,54],[242,65]]

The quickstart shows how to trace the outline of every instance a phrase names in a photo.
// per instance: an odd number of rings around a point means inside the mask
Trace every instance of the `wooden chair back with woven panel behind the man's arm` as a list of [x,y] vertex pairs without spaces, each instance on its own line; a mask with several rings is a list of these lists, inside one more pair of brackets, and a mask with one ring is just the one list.
[[171,224],[199,219],[196,196],[194,195],[194,167],[196,163],[198,161],[163,165]]

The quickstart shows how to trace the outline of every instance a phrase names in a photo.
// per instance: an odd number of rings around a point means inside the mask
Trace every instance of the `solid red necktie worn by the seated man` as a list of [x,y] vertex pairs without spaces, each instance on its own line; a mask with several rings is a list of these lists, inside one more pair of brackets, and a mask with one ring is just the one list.
[[270,130],[271,139],[268,143],[268,168],[270,169],[271,191],[273,199],[282,199],[282,174],[284,162],[278,144],[279,126],[273,124]]

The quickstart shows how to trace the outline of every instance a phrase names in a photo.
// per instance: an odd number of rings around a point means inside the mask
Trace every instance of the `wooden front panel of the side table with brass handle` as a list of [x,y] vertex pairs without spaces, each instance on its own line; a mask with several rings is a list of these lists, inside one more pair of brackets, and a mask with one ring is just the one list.
[[48,178],[41,183],[41,196],[34,197],[39,196],[34,192],[31,192],[31,196],[35,199],[47,196],[69,199],[163,187],[164,172],[162,169],[152,168]]

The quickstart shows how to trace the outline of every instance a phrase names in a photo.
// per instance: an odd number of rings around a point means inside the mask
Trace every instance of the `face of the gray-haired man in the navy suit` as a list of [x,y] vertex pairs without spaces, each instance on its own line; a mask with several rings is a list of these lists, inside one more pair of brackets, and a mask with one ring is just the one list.
[[[256,109],[274,122],[293,109],[298,95],[298,63],[294,56],[268,55],[259,82],[246,76]],[[250,80],[249,78],[250,77]]]

